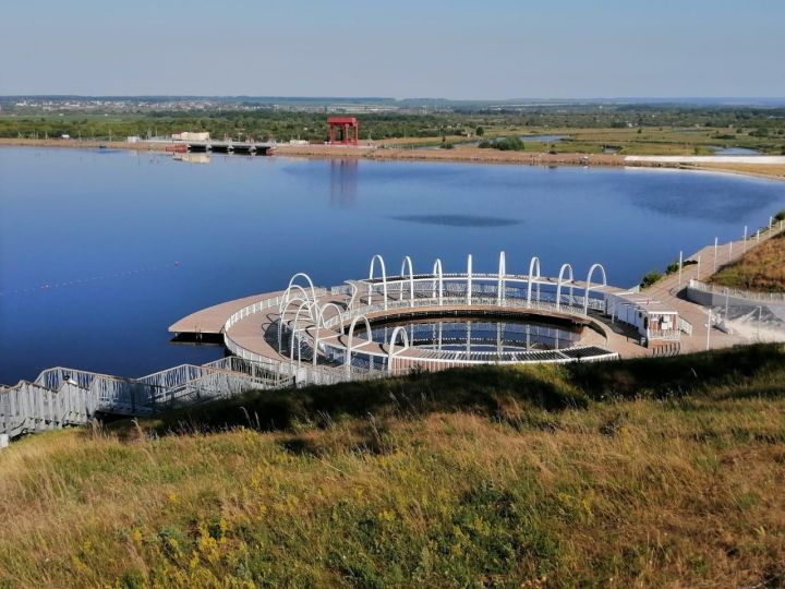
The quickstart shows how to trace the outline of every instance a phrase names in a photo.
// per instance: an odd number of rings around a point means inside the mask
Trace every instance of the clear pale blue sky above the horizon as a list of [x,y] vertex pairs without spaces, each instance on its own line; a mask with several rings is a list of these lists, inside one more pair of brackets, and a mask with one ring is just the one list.
[[0,94],[785,96],[785,0],[3,0]]

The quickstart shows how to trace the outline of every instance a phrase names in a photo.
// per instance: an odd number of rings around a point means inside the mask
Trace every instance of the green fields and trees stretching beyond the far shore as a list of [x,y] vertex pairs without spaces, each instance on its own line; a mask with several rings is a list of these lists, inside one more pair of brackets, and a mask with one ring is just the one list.
[[[130,109],[106,105],[106,112],[80,112],[67,106],[48,110],[5,105],[0,137],[71,137],[98,141],[128,135],[169,136],[183,130],[214,137],[326,141],[324,110],[278,110],[265,104],[227,105],[204,110]],[[174,105],[172,108],[176,108]],[[57,112],[59,110],[59,112]],[[568,154],[711,155],[716,147],[785,153],[785,109],[689,107],[685,105],[572,105],[520,109],[414,108],[358,115],[360,139],[396,148],[459,145],[467,141],[520,136],[523,151]],[[527,141],[527,135],[558,135],[560,141]]]

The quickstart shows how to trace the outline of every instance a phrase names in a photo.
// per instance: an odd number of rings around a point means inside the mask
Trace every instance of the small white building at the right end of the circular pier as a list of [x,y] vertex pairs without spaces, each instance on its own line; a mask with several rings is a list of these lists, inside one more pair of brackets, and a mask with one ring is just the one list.
[[605,312],[613,321],[635,327],[644,344],[657,345],[681,338],[679,315],[675,309],[641,292],[608,293]]

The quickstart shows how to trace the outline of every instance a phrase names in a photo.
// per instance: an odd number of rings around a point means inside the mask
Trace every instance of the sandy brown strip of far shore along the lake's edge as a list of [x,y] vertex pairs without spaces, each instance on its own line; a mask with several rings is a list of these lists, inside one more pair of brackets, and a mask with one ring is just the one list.
[[[1,139],[0,146],[26,147],[71,147],[71,148],[99,148],[129,149],[136,152],[168,153],[167,144],[152,144],[146,142],[129,143],[124,141],[95,141],[95,140],[24,140]],[[702,170],[714,172],[732,172],[757,178],[785,180],[785,166],[770,164],[708,164],[685,165],[673,163],[629,163],[625,156],[617,154],[579,154],[542,152],[502,152],[498,149],[481,149],[479,147],[458,146],[452,149],[411,149],[395,146],[359,145],[291,145],[279,144],[275,148],[276,155],[309,158],[357,158],[373,160],[402,160],[402,161],[456,161],[474,164],[517,164],[526,166],[604,166],[604,167],[645,167],[672,168],[684,170]]]

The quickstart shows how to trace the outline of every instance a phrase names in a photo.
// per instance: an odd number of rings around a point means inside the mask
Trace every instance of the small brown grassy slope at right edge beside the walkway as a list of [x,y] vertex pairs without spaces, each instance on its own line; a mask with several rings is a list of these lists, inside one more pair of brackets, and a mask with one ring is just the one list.
[[785,233],[752,249],[712,276],[715,285],[759,292],[785,291]]

